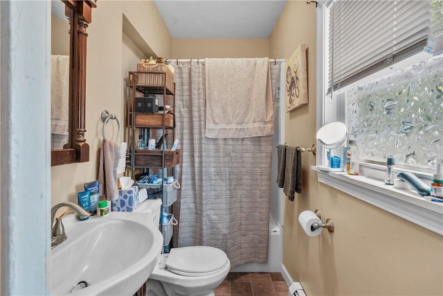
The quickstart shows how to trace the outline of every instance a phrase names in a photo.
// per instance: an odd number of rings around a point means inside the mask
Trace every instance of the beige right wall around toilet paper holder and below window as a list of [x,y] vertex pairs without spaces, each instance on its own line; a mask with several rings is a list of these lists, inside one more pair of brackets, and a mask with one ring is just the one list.
[[[316,8],[288,1],[270,37],[271,56],[308,46],[309,105],[286,114],[285,141],[310,147],[316,134]],[[307,295],[443,295],[443,237],[320,184],[302,155],[302,194],[284,204],[283,264]],[[320,209],[335,232],[309,238],[298,225]]]

